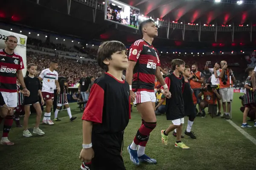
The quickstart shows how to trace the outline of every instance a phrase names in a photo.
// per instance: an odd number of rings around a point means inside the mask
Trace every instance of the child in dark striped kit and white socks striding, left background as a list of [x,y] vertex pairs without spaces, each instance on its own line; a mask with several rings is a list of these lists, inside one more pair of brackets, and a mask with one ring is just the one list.
[[60,94],[58,94],[57,108],[55,110],[53,120],[54,121],[61,121],[61,119],[58,119],[58,112],[61,109],[61,106],[64,105],[64,107],[67,109],[67,114],[70,118],[70,121],[72,122],[73,120],[76,119],[76,117],[72,116],[70,107],[69,107],[68,102],[67,102],[67,94],[66,94],[66,88],[68,88],[67,79],[61,79],[59,84],[60,84],[61,92],[60,92]]

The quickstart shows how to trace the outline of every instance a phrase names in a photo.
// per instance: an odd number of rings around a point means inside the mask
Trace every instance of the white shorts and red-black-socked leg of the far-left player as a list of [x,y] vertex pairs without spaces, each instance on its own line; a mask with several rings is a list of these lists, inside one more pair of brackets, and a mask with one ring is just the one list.
[[14,145],[13,142],[10,142],[8,139],[9,132],[12,127],[13,123],[13,111],[17,107],[18,103],[18,96],[17,93],[8,93],[8,92],[1,92],[4,101],[6,102],[6,105],[12,109],[12,112],[9,113],[7,109],[3,110],[3,115],[5,116],[4,124],[3,124],[3,136],[0,141],[0,144],[6,144],[6,145]]

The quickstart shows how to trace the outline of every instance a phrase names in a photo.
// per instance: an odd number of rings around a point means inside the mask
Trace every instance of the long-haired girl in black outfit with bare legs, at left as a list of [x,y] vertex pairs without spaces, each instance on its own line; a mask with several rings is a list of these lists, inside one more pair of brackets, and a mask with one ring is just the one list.
[[23,126],[24,126],[23,136],[25,137],[32,136],[32,134],[28,130],[28,122],[29,122],[31,105],[35,108],[35,111],[36,111],[36,122],[35,122],[35,127],[33,129],[33,133],[38,135],[44,135],[44,132],[41,129],[39,129],[42,110],[41,110],[41,105],[38,101],[38,95],[41,98],[42,105],[44,105],[44,99],[41,93],[40,81],[37,77],[35,77],[36,70],[37,70],[37,65],[35,65],[34,63],[28,64],[26,77],[24,78],[25,85],[28,88],[28,90],[31,92],[30,96],[24,97],[25,116],[23,119]]

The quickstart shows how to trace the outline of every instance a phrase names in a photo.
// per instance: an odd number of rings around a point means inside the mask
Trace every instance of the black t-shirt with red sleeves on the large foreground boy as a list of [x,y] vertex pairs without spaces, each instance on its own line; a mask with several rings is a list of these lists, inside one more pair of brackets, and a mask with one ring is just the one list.
[[93,133],[125,130],[131,117],[129,84],[105,73],[94,81],[82,119],[94,122]]

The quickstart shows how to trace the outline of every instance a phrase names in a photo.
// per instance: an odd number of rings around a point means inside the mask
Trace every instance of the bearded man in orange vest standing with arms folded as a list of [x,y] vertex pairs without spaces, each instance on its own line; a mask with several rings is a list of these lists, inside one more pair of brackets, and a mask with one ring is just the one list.
[[[190,82],[191,89],[195,93],[195,97],[197,98],[197,103],[199,105],[201,98],[198,98],[198,94],[200,93],[200,88],[202,87],[202,83],[204,83],[204,74],[198,71],[197,64],[193,64],[191,67],[191,70],[192,71],[191,71],[191,76],[189,77],[189,82]],[[198,115],[201,116],[201,114],[202,114],[202,110],[199,107]]]

